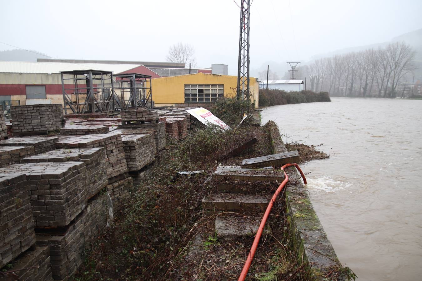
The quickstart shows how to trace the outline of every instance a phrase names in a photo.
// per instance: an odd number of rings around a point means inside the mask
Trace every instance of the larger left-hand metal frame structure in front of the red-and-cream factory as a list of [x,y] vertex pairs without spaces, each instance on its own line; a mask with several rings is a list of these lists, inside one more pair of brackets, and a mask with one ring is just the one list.
[[[83,114],[85,112],[92,114],[105,113],[122,107],[122,102],[114,92],[113,72],[103,70],[73,70],[61,71],[60,75],[62,78],[65,114],[67,114],[68,107],[70,107],[73,114]],[[65,84],[69,80],[72,83]],[[106,85],[110,86],[106,87]],[[106,90],[109,93],[107,97],[104,96]],[[75,101],[72,101],[68,92],[75,95]],[[101,96],[98,98],[99,93]],[[85,99],[80,97],[82,95],[86,95]]]

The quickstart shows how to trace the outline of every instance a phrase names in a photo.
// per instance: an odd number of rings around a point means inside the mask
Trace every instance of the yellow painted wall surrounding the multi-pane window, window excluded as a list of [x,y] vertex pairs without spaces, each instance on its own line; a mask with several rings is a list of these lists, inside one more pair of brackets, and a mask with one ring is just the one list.
[[[151,79],[152,99],[156,106],[184,103],[185,84],[224,84],[224,96],[235,97],[237,76],[197,73]],[[256,78],[249,78],[251,98],[258,107],[259,85]],[[192,104],[192,103],[190,103]]]

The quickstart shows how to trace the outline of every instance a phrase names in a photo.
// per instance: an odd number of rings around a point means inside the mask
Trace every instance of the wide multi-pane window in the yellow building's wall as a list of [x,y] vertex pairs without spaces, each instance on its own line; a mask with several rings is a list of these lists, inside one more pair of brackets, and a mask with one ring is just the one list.
[[224,85],[185,85],[185,102],[215,102],[224,96]]

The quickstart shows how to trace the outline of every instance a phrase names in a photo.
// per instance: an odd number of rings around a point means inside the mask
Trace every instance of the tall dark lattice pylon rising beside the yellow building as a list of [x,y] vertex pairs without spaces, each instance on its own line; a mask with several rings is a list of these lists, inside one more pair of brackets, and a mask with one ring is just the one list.
[[237,98],[250,99],[249,92],[249,17],[250,0],[241,0],[240,3],[240,32],[239,32],[239,60]]

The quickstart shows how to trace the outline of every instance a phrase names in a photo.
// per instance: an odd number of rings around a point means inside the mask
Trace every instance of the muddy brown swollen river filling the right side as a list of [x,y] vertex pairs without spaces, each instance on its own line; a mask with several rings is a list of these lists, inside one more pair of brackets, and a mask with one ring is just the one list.
[[340,261],[359,280],[422,280],[422,100],[332,98],[261,113],[284,142],[330,155],[302,169]]

